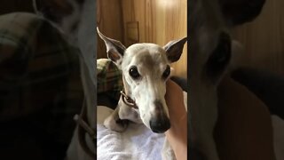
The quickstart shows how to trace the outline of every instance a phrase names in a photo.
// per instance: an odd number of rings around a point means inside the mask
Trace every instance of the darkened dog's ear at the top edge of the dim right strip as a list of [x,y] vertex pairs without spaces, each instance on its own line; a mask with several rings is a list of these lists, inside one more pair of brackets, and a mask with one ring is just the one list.
[[255,20],[265,0],[219,0],[219,3],[228,25],[236,26]]

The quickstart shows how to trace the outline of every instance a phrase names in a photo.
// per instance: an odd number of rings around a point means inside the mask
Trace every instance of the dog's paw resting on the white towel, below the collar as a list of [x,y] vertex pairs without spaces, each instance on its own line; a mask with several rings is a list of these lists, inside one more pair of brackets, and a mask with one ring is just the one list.
[[108,116],[104,122],[106,128],[115,132],[124,132],[128,126],[128,120],[115,120],[112,116]]

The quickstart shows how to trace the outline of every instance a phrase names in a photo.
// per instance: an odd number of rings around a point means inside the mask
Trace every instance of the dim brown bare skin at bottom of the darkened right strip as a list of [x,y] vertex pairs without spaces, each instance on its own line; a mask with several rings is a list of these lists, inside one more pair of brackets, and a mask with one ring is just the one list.
[[275,159],[272,120],[264,103],[225,76],[218,87],[215,140],[220,159]]

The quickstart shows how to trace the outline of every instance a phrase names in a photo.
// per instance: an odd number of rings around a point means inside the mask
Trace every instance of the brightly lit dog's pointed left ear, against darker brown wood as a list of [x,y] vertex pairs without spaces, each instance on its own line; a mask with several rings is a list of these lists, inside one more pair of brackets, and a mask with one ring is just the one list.
[[99,37],[105,42],[106,44],[106,52],[108,59],[114,61],[116,65],[120,65],[122,62],[122,56],[125,51],[125,46],[112,38],[104,36],[102,33],[99,32],[99,28],[97,28]]

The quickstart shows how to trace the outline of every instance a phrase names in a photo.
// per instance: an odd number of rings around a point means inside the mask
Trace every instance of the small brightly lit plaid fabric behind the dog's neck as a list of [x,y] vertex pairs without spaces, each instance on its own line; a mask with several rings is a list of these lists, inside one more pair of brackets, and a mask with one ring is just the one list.
[[98,93],[107,92],[107,95],[118,100],[122,91],[122,72],[111,60],[97,60]]

